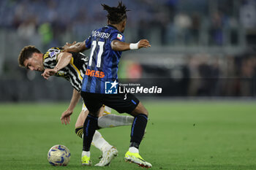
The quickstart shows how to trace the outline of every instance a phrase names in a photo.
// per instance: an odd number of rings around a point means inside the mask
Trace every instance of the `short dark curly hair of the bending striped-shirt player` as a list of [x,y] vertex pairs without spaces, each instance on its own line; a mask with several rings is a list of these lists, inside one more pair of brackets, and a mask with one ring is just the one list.
[[31,58],[33,53],[41,53],[41,52],[33,45],[23,47],[23,49],[20,51],[20,55],[18,56],[19,66],[25,67],[24,61],[28,58]]

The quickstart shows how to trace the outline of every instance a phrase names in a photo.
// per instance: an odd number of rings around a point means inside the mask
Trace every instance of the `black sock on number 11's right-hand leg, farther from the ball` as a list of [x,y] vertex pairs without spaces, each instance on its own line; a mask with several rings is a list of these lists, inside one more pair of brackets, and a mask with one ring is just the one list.
[[143,138],[147,122],[148,117],[144,114],[139,114],[135,117],[132,123],[130,147],[136,147],[139,149],[139,145]]

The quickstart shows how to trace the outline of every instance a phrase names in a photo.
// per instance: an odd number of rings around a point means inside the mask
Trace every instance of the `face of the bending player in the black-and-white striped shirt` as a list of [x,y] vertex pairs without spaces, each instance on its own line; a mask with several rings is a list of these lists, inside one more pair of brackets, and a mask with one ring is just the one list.
[[32,71],[43,72],[44,66],[42,65],[42,58],[39,58],[37,54],[33,54],[31,58],[28,58],[24,61],[24,66],[26,69],[30,69]]

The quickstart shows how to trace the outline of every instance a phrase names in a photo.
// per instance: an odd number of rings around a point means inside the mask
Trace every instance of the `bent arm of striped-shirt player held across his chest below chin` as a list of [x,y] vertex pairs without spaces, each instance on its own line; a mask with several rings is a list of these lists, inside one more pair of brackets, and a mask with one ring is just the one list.
[[60,69],[63,69],[65,66],[69,64],[71,61],[72,54],[67,53],[67,52],[62,52],[59,53],[57,60],[58,63],[53,69],[45,69],[45,72],[43,72],[41,75],[44,77],[46,80],[50,77],[59,72]]

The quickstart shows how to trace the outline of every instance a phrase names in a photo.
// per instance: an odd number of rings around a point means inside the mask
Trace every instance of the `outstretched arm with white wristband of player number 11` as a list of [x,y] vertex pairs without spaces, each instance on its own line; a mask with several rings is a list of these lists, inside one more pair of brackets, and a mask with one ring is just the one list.
[[125,50],[138,50],[142,47],[151,47],[147,39],[140,39],[137,43],[127,43],[120,42],[118,40],[113,40],[111,42],[112,50],[115,51],[125,51]]

